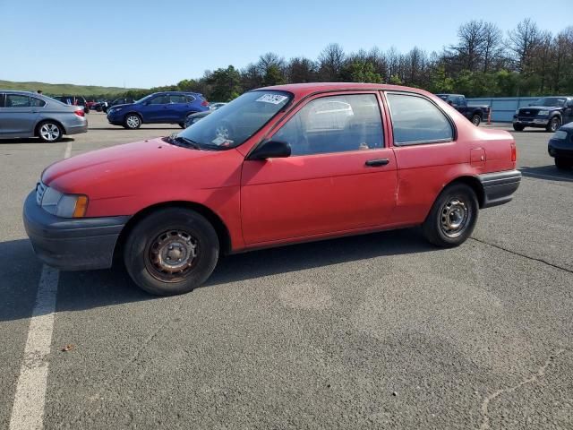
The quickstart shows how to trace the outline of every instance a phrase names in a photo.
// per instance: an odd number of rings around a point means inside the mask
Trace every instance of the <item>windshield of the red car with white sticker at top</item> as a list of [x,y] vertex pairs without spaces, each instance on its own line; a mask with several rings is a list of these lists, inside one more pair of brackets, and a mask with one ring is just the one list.
[[292,95],[284,91],[246,92],[190,125],[178,136],[204,148],[235,148],[257,133],[291,99]]

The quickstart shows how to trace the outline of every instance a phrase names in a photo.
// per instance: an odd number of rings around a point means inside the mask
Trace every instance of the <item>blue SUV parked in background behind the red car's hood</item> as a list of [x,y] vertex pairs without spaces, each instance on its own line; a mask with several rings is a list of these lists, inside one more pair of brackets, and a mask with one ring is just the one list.
[[209,102],[198,92],[155,92],[126,105],[107,110],[107,121],[125,128],[140,128],[141,124],[178,124],[195,112],[209,110]]

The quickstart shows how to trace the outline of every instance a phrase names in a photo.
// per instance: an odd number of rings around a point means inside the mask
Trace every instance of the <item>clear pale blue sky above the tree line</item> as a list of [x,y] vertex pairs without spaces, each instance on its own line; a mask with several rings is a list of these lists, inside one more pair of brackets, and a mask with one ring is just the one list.
[[573,0],[0,0],[0,80],[150,88],[269,51],[315,59],[332,42],[430,53],[462,22],[505,32],[527,17],[559,32]]

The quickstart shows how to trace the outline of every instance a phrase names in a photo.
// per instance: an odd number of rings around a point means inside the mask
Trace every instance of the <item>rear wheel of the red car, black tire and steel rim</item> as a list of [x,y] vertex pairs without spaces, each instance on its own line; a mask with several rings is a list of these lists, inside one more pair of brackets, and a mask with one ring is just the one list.
[[[440,247],[461,245],[474,231],[478,211],[477,197],[469,185],[449,185],[440,193],[423,221],[423,236]],[[459,228],[448,230],[445,225],[456,225],[454,221],[459,221]]]

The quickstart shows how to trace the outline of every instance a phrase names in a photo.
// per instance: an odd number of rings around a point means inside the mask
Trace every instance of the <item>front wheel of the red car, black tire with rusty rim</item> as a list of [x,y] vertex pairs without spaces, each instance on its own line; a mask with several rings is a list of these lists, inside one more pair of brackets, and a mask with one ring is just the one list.
[[[195,211],[168,208],[151,213],[133,228],[125,242],[124,263],[140,288],[172,296],[200,287],[215,269],[218,253],[217,232],[207,219]],[[191,260],[175,260],[182,255]],[[182,269],[175,263],[188,266]]]

